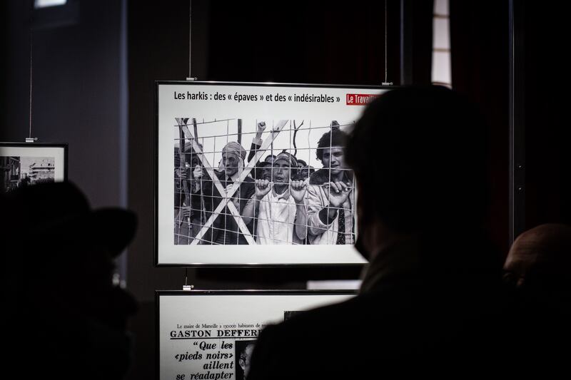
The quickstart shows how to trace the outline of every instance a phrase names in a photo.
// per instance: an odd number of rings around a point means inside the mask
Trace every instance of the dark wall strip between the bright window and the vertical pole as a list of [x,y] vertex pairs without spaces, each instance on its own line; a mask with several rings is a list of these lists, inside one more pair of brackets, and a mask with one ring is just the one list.
[[[485,20],[485,27],[482,21]],[[509,247],[509,24],[507,1],[450,1],[452,83],[490,125],[490,230]],[[467,200],[469,202],[469,200]]]

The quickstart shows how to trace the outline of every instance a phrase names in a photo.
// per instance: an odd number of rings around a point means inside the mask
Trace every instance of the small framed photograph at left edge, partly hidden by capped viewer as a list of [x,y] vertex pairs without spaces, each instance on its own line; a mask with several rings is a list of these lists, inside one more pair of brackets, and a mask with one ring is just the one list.
[[67,144],[0,143],[1,189],[67,180]]

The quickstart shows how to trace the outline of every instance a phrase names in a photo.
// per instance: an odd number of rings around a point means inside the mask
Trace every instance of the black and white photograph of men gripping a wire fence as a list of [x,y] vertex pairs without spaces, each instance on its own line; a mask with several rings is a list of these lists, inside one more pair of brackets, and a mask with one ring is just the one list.
[[176,245],[355,242],[352,120],[177,121]]

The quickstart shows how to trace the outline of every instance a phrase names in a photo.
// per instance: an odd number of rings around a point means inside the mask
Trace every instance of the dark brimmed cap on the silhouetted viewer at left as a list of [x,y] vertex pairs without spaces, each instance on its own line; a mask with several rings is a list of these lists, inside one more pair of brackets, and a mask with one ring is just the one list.
[[48,252],[63,247],[101,245],[112,257],[119,255],[133,239],[136,215],[118,207],[91,209],[89,201],[76,185],[45,183],[12,192],[10,213],[19,227],[14,239],[43,260]]

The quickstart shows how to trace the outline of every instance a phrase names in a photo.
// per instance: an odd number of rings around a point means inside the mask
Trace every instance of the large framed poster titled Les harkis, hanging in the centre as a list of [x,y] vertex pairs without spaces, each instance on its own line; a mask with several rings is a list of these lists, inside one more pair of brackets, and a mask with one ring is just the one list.
[[388,88],[156,83],[156,265],[362,265],[343,146]]

